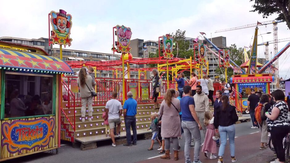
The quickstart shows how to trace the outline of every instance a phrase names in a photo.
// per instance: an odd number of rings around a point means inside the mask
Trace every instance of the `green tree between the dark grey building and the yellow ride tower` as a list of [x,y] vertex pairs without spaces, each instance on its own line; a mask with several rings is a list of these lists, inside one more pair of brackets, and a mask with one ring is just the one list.
[[[237,49],[237,45],[232,44],[229,50],[230,50],[230,59],[234,61],[234,63],[236,63],[238,66],[240,66],[243,63],[243,52],[244,52],[243,48],[240,47]],[[218,74],[222,74],[222,72],[225,72],[225,68],[223,67],[217,68],[215,71]],[[234,75],[234,70],[232,68],[227,68],[228,81],[232,75]]]

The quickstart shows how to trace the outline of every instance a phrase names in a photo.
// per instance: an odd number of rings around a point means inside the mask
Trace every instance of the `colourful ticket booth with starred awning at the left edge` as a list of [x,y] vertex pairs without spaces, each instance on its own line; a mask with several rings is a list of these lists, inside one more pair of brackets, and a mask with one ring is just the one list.
[[61,75],[73,70],[36,47],[0,42],[0,161],[60,148]]

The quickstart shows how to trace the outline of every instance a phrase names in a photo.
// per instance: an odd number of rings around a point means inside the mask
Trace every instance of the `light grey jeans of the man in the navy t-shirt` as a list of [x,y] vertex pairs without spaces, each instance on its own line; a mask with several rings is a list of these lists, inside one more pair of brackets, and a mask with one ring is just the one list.
[[186,163],[191,163],[190,161],[190,145],[191,136],[193,135],[195,139],[194,146],[194,157],[195,162],[199,161],[199,153],[201,151],[201,132],[198,129],[196,121],[182,121],[181,126],[184,131],[185,144],[184,144],[184,157]]

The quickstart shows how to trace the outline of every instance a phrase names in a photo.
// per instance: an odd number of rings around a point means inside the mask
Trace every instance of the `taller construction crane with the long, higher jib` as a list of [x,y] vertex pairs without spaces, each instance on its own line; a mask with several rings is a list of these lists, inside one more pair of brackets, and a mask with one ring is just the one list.
[[[284,22],[282,20],[272,20],[272,21],[267,21],[267,22],[257,22],[257,23],[253,23],[253,24],[248,24],[248,25],[244,25],[244,26],[238,26],[238,27],[234,27],[234,28],[228,28],[228,29],[224,29],[224,30],[217,30],[215,31],[215,33],[217,32],[224,32],[224,31],[232,31],[232,30],[238,30],[238,29],[243,29],[243,28],[250,28],[250,27],[255,27],[255,26],[263,26],[263,25],[267,25],[267,24],[273,24],[273,40],[274,40],[274,54],[278,53],[278,37],[277,37],[277,23],[279,22]],[[268,57],[269,58],[269,57]],[[276,59],[275,61],[275,67],[277,69],[279,69],[279,63],[278,63],[278,59]],[[277,81],[277,88],[279,88],[280,84],[279,84],[279,71],[275,71],[275,78]]]

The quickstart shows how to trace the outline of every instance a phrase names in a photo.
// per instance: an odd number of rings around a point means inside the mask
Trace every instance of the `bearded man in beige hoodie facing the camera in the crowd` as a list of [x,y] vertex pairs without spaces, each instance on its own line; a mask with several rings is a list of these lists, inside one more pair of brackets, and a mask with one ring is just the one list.
[[[205,124],[203,123],[205,119],[205,112],[209,112],[209,98],[207,95],[202,91],[202,87],[200,85],[196,86],[196,94],[193,96],[194,103],[195,103],[195,111],[197,113],[197,117],[199,119],[202,126],[202,131],[203,131],[203,138],[205,138],[205,133],[206,133],[206,127]],[[192,142],[193,139],[192,139]],[[202,143],[203,145],[203,143]]]

